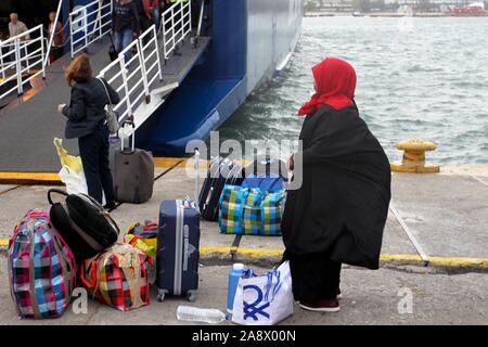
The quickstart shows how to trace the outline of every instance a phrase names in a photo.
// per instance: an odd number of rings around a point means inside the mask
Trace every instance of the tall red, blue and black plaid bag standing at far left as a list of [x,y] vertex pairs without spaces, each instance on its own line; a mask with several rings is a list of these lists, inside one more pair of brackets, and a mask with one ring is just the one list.
[[66,311],[76,261],[48,211],[29,210],[15,227],[8,261],[10,291],[21,318],[55,318]]

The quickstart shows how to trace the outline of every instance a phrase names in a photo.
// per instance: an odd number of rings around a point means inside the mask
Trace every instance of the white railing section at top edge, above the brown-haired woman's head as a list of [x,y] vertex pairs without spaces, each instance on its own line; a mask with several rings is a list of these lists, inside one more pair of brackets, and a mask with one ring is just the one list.
[[95,0],[69,13],[72,57],[112,30],[113,1]]

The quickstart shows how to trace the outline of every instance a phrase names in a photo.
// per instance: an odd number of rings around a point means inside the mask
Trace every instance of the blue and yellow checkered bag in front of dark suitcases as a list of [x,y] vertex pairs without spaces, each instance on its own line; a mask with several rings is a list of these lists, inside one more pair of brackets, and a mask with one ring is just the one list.
[[246,235],[281,235],[284,190],[226,185],[219,203],[219,227],[222,233]]

